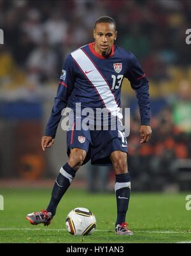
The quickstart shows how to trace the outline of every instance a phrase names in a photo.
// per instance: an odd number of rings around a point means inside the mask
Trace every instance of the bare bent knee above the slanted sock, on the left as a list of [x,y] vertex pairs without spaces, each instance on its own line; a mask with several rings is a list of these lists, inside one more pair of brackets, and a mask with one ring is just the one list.
[[74,169],[78,170],[85,160],[86,152],[83,149],[72,149],[69,155],[68,164]]

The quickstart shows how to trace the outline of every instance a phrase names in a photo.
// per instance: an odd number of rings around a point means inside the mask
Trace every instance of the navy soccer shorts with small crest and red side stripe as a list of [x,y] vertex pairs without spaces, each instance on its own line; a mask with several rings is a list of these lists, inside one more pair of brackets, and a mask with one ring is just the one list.
[[67,155],[70,149],[79,148],[87,152],[83,164],[91,159],[93,165],[111,165],[113,151],[127,153],[127,140],[118,130],[75,130],[75,125],[67,131]]

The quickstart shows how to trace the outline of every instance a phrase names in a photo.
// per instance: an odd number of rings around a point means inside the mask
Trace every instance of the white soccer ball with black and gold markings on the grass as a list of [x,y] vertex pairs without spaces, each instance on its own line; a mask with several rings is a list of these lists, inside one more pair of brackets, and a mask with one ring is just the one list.
[[91,235],[95,227],[95,216],[86,208],[77,207],[70,211],[66,217],[66,229],[72,235]]

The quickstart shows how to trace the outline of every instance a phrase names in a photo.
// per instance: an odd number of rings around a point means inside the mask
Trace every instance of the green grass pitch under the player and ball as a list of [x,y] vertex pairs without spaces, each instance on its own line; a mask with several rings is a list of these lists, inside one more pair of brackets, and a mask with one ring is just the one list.
[[[134,236],[114,232],[114,193],[90,194],[71,188],[61,200],[50,226],[31,225],[25,216],[45,209],[51,189],[3,189],[4,211],[0,211],[0,243],[177,243],[191,241],[191,211],[185,208],[189,193],[134,193],[127,222]],[[71,236],[66,231],[67,213],[87,207],[97,219],[92,236]]]

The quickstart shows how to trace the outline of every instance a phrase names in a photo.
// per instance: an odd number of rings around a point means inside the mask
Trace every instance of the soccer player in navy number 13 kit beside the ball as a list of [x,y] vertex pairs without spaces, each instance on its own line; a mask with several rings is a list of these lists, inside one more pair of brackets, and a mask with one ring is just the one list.
[[[80,117],[75,112],[76,103],[81,103],[81,109],[89,107],[95,111],[97,108],[106,108],[111,116],[122,118],[119,114],[120,90],[122,80],[127,77],[138,98],[141,116],[140,143],[150,140],[152,129],[148,80],[136,57],[131,52],[114,45],[116,39],[115,20],[107,16],[100,17],[95,21],[95,41],[67,56],[45,136],[41,139],[41,147],[45,151],[52,146],[61,112],[66,106],[70,107],[74,110],[74,122],[67,131],[69,160],[60,169],[46,210],[27,215],[27,220],[33,225],[50,224],[60,199],[69,188],[77,170],[91,159],[92,164],[112,163],[116,176],[117,199],[115,232],[118,235],[133,234],[125,222],[131,192],[131,177],[127,167],[127,140],[124,133],[118,132],[118,129],[76,129],[76,122]],[[82,122],[83,117],[80,118]]]

